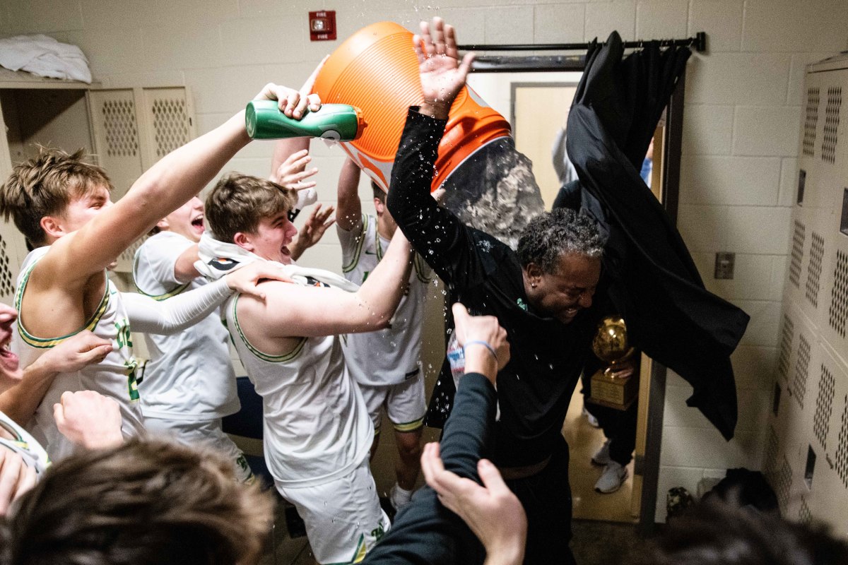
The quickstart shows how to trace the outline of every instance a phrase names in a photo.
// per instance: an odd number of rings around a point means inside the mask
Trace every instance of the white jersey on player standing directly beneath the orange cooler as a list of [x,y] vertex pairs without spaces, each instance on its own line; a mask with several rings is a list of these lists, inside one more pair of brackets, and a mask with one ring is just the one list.
[[[338,228],[344,277],[361,285],[382,259],[389,241],[377,233],[377,219],[362,214],[359,230]],[[421,373],[421,326],[432,270],[416,253],[410,284],[392,317],[391,327],[344,336],[350,374],[362,385],[397,385]]]

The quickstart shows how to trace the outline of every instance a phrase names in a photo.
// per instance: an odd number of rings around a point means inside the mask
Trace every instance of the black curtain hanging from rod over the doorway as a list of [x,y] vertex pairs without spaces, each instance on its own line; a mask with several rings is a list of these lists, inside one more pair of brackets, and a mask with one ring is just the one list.
[[729,440],[737,419],[729,356],[749,317],[706,291],[677,228],[639,176],[691,52],[649,42],[623,53],[615,31],[589,47],[566,130],[579,181],[562,188],[555,207],[581,208],[609,231],[609,297],[633,345],[689,381],[689,406]]

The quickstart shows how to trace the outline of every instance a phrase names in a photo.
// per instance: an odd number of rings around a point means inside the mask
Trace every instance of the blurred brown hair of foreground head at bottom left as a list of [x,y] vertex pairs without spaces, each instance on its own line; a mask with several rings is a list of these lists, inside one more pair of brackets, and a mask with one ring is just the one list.
[[232,565],[259,557],[273,501],[216,453],[159,440],[55,463],[12,508],[3,565]]

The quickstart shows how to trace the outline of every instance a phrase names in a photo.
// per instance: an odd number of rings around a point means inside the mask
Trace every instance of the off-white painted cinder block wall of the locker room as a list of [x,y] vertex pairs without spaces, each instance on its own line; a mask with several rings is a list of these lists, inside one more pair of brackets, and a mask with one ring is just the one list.
[[[103,86],[185,85],[203,133],[267,81],[299,86],[340,42],[310,42],[307,12],[337,11],[340,40],[380,19],[414,30],[440,15],[460,42],[582,42],[618,30],[624,39],[709,34],[687,76],[679,227],[706,285],[751,315],[734,356],[737,438],[724,442],[667,387],[658,518],[664,492],[695,490],[703,476],[759,468],[778,346],[782,284],[795,185],[801,85],[808,62],[848,47],[844,0],[4,0],[0,36],[47,33],[79,45]],[[380,93],[375,93],[380,96]],[[332,203],[342,158],[316,144],[323,202]],[[271,144],[254,143],[228,169],[266,174]],[[365,186],[363,186],[363,189]],[[369,191],[362,196],[370,201]],[[736,253],[734,280],[712,280],[716,252]],[[334,233],[310,262],[338,269]]]

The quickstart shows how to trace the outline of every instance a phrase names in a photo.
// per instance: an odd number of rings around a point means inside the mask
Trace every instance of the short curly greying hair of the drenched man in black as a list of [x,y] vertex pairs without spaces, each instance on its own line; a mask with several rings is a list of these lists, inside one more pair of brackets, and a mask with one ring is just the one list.
[[518,238],[516,252],[522,267],[534,263],[545,273],[555,273],[561,255],[600,257],[605,243],[600,225],[589,215],[556,208],[530,220]]

